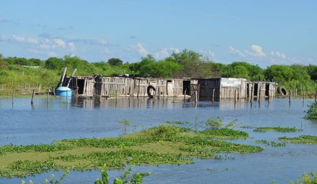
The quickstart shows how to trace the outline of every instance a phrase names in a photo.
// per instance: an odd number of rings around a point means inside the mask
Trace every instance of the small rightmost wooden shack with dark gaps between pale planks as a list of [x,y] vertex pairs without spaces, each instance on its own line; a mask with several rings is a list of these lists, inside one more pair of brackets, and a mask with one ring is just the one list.
[[276,82],[248,82],[247,97],[275,97]]

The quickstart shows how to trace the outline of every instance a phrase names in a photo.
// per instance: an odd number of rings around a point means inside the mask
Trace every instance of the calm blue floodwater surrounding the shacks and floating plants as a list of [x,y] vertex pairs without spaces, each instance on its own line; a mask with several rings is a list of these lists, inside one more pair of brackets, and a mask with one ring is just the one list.
[[[68,101],[68,103],[66,102]],[[204,121],[209,117],[224,117],[224,122],[238,119],[239,126],[283,126],[302,128],[296,133],[256,133],[253,129],[238,128],[253,139],[235,140],[262,146],[263,152],[255,154],[227,154],[234,159],[196,159],[189,165],[137,166],[136,172],[152,172],[144,183],[287,183],[301,174],[317,171],[317,146],[286,143],[285,147],[270,147],[255,143],[265,139],[278,141],[278,137],[317,135],[317,122],[308,121],[307,105],[313,100],[276,98],[261,102],[172,102],[118,98],[117,100],[78,100],[62,97],[38,97],[34,104],[30,98],[0,99],[0,145],[8,143],[51,143],[57,139],[79,137],[117,137],[122,133],[117,123],[123,118],[132,122],[130,131],[163,124],[165,121]],[[197,119],[197,120],[196,120]],[[110,171],[110,177],[120,176],[122,170]],[[36,183],[43,182],[54,173],[28,177]],[[71,172],[63,183],[93,183],[99,171]],[[0,183],[21,183],[21,179],[0,179]]]

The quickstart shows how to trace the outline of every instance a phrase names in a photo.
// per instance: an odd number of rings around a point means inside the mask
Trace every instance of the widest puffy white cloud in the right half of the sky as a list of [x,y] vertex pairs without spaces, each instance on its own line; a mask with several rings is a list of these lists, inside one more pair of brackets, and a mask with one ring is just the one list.
[[246,56],[253,56],[255,58],[263,58],[266,57],[266,53],[263,51],[262,47],[259,45],[251,45],[251,49],[250,50],[244,50],[241,51],[239,49],[235,49],[234,47],[230,46],[229,47],[229,52],[231,54],[235,54],[238,55],[242,58],[246,57]]

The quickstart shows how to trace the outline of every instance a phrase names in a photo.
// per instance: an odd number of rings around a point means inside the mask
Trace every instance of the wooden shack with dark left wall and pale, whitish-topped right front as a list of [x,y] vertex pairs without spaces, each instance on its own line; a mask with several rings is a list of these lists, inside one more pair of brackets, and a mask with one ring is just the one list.
[[230,99],[246,97],[244,78],[207,78],[198,79],[199,97],[205,99]]

